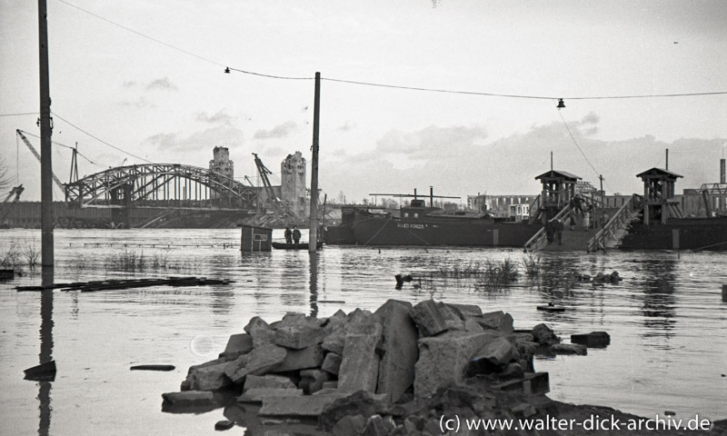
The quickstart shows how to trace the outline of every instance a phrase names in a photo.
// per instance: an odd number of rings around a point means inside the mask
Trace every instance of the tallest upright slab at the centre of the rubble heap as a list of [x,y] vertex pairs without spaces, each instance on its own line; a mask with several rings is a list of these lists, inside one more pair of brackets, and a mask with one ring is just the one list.
[[410,302],[389,300],[374,313],[383,327],[383,356],[379,362],[376,393],[398,401],[414,381],[414,364],[419,357],[416,326],[409,316]]

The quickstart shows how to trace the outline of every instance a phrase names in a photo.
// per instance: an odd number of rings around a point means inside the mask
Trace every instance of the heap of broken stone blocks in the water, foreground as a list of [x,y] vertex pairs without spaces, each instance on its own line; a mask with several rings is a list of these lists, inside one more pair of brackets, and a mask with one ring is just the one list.
[[316,424],[302,434],[442,434],[443,411],[513,418],[543,409],[549,381],[534,370],[536,352],[585,354],[586,345],[563,344],[544,324],[515,331],[510,314],[476,305],[389,300],[373,313],[255,317],[163,397],[204,408],[232,391],[263,422]]

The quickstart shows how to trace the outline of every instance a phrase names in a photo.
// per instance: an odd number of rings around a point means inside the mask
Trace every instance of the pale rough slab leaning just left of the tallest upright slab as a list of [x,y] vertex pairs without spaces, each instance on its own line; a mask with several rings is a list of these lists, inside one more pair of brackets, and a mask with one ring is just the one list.
[[344,354],[338,371],[338,389],[343,392],[376,391],[379,376],[379,356],[376,345],[381,340],[382,326],[378,322],[349,322]]

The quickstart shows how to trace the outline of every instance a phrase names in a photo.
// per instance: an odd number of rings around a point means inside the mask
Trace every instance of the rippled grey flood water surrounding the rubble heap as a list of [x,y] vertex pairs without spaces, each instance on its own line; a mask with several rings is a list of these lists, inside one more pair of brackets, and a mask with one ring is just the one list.
[[[275,231],[274,238],[282,239]],[[727,418],[727,253],[543,253],[541,276],[492,290],[473,280],[431,279],[519,250],[359,248],[241,254],[239,230],[56,230],[55,282],[124,277],[204,276],[229,285],[156,286],[103,292],[16,292],[40,273],[0,282],[0,433],[216,434],[221,409],[162,412],[161,394],[178,391],[190,365],[224,350],[259,315],[325,317],[338,309],[375,310],[389,298],[473,303],[513,315],[516,329],[545,322],[572,333],[605,331],[606,349],[587,356],[536,359],[550,372],[553,399],[598,404],[653,417]],[[304,236],[304,239],[306,237]],[[40,232],[0,230],[0,259],[11,244],[40,251]],[[124,244],[126,245],[124,247]],[[143,257],[130,271],[129,259]],[[125,265],[125,267],[124,267]],[[38,267],[39,269],[39,267]],[[568,281],[568,272],[618,271],[619,284]],[[25,272],[27,268],[25,268]],[[423,277],[421,289],[394,289],[393,275]],[[418,283],[417,283],[418,284]],[[536,311],[553,302],[565,312]],[[55,381],[23,380],[23,370],[52,357]],[[129,371],[134,364],[173,364],[173,372]]]

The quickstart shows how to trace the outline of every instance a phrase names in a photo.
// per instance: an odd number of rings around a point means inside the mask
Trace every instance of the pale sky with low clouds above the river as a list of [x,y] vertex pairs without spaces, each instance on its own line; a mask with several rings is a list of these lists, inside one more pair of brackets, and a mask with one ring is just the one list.
[[[721,0],[47,0],[47,8],[53,165],[64,182],[63,145],[75,144],[81,176],[148,162],[206,168],[215,146],[229,148],[241,181],[257,175],[253,153],[274,173],[296,151],[310,163],[316,72],[319,184],[334,200],[430,186],[463,202],[538,193],[534,177],[550,170],[551,153],[554,169],[595,186],[603,174],[606,193],[642,192],[635,175],[664,167],[666,149],[669,169],[684,176],[678,192],[719,182]],[[40,164],[15,129],[39,134],[38,83],[37,4],[0,0],[0,159],[27,201],[40,199]],[[593,98],[654,94],[702,95]]]

